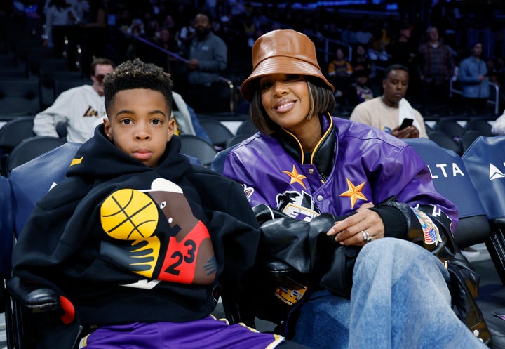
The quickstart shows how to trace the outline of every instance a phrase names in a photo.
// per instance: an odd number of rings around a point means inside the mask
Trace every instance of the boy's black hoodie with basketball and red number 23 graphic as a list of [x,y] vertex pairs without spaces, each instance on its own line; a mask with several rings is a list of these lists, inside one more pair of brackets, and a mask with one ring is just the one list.
[[151,168],[97,127],[36,205],[15,275],[60,291],[81,324],[197,320],[221,291],[241,294],[257,220],[240,185],[179,150],[174,136]]

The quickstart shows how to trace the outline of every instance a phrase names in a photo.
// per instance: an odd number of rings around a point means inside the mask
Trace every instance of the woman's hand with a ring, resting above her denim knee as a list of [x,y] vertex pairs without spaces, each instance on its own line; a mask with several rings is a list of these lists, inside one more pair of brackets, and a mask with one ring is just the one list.
[[348,246],[363,246],[367,243],[368,235],[372,240],[384,237],[382,218],[377,212],[369,210],[373,206],[371,203],[361,205],[356,214],[335,222],[326,234],[334,235],[335,241]]

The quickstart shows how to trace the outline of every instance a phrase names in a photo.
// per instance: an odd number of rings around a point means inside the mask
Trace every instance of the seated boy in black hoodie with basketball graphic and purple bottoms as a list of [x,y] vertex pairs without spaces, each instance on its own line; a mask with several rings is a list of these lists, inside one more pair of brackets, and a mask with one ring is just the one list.
[[260,230],[238,184],[179,153],[170,75],[134,60],[104,83],[107,118],[36,205],[15,275],[71,302],[62,321],[94,330],[80,348],[288,348],[209,315],[242,294]]

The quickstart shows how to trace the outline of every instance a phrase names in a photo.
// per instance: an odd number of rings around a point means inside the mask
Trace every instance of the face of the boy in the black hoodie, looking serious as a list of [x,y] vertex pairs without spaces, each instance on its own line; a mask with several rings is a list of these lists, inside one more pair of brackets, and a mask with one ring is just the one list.
[[163,95],[145,88],[119,91],[110,109],[104,118],[107,138],[122,152],[156,167],[174,131]]

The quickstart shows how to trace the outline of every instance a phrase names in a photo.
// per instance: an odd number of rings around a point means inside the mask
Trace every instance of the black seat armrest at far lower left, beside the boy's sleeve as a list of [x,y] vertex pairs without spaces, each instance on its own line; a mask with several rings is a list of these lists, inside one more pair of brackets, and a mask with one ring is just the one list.
[[29,312],[50,312],[60,308],[60,296],[53,289],[40,284],[12,277],[6,282],[6,289],[16,301]]

